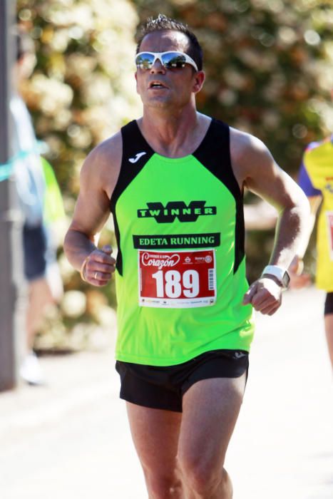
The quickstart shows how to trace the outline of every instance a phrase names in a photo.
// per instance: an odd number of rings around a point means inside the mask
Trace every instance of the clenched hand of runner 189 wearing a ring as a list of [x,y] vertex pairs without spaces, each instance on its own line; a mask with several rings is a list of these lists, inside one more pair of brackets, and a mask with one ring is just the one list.
[[111,254],[112,248],[109,245],[103,246],[101,249],[97,248],[89,254],[83,271],[86,282],[98,287],[108,284],[116,270],[116,260],[111,257]]

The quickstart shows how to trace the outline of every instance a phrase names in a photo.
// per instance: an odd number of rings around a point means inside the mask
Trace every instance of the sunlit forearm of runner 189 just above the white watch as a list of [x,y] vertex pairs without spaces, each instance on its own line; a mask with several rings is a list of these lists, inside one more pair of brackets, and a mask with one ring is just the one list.
[[287,269],[309,234],[309,203],[306,198],[297,206],[285,208],[277,220],[275,244],[270,264]]

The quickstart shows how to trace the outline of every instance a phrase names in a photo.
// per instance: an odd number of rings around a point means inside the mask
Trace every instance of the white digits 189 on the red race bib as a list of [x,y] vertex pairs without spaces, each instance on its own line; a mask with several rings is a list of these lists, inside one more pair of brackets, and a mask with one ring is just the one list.
[[158,298],[179,298],[183,294],[186,298],[195,298],[199,294],[199,273],[196,270],[185,270],[183,274],[178,270],[159,270],[152,275],[156,280],[156,296]]

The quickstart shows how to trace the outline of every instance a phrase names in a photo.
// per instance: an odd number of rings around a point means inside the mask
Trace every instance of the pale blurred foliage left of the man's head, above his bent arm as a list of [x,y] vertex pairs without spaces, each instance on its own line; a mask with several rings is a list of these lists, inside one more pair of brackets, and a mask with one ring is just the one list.
[[128,0],[18,0],[17,8],[36,46],[24,96],[65,198],[76,197],[87,153],[140,114],[133,76],[138,19]]

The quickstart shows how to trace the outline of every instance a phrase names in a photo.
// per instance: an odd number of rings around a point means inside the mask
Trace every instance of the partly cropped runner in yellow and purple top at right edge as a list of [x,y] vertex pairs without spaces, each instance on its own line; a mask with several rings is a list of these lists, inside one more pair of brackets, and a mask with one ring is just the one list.
[[290,266],[290,277],[294,288],[310,282],[309,274],[303,272],[302,259],[318,214],[315,282],[319,289],[327,293],[324,324],[333,369],[333,134],[308,145],[299,168],[299,185],[309,200],[311,217],[302,247]]

